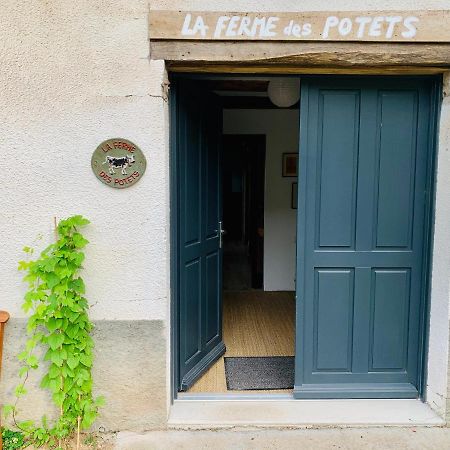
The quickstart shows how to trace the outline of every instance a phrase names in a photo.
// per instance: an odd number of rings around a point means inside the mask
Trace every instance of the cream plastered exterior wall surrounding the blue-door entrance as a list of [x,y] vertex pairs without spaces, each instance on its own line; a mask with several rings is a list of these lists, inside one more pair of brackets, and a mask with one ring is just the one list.
[[[136,402],[140,392],[158,399],[166,395],[169,122],[161,89],[164,63],[151,61],[149,55],[149,8],[343,11],[448,7],[448,0],[334,0],[320,4],[306,0],[301,5],[287,0],[80,0],[76,4],[69,0],[3,0],[0,309],[13,316],[5,351],[15,354],[16,343],[24,337],[23,322],[15,322],[24,317],[20,303],[25,286],[16,271],[17,261],[23,257],[20,249],[33,244],[39,234],[42,239],[35,247],[45,247],[53,237],[53,217],[83,214],[92,221],[86,229],[91,244],[83,276],[93,305],[91,315],[98,322],[97,348],[104,349],[95,369],[100,383],[97,389],[108,389],[108,395],[117,396],[114,401],[118,403],[111,403],[111,408],[124,405],[125,400]],[[448,78],[446,86],[448,91]],[[444,413],[450,277],[449,97],[444,99],[440,125],[427,395],[430,404]],[[92,152],[110,137],[130,139],[147,157],[145,176],[129,189],[108,188],[91,173]],[[141,341],[127,331],[135,324],[139,324],[136,330],[142,336],[140,353],[133,351]],[[122,346],[118,361],[111,353],[115,345]],[[147,364],[150,360],[161,366],[155,370],[153,363]],[[11,361],[8,357],[5,367],[13,368]],[[135,372],[127,371],[129,365],[134,365]],[[122,373],[133,378],[134,391],[121,390],[123,381],[116,378],[117,367],[123,367]],[[153,371],[157,374],[155,382],[151,380]],[[0,403],[9,398],[15,384],[12,373],[2,381]],[[27,403],[29,411],[36,416],[48,412],[47,400],[33,395]],[[119,422],[105,411],[105,417],[109,417],[105,426],[142,430],[164,424],[167,401],[157,400],[159,406],[155,406],[149,397],[143,398],[148,399],[149,409],[155,408],[157,417],[140,418],[144,406],[137,402]]]

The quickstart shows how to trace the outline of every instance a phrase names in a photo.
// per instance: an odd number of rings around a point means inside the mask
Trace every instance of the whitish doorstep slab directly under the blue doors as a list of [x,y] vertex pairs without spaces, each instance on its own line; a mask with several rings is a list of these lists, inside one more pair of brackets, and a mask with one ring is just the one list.
[[410,399],[294,400],[245,396],[181,396],[171,407],[170,428],[319,428],[347,426],[442,426],[430,406]]

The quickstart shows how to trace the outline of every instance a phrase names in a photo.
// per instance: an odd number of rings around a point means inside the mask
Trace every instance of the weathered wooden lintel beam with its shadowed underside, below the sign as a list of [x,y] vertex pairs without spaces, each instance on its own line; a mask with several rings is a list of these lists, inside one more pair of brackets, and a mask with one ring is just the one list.
[[233,73],[440,73],[450,44],[151,41],[172,71]]

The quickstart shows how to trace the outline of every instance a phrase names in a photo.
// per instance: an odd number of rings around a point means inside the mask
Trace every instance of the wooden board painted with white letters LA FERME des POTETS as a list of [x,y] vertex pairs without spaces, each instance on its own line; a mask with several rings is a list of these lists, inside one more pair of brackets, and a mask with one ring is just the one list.
[[450,10],[150,11],[150,39],[450,42]]

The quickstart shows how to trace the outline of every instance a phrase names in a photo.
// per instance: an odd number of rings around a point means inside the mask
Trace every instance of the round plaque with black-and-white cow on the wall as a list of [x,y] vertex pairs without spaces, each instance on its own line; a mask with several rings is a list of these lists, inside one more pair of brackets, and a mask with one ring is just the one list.
[[114,138],[102,142],[95,149],[91,166],[103,184],[123,189],[142,178],[147,161],[136,144],[127,139]]

